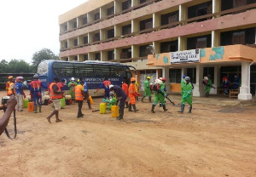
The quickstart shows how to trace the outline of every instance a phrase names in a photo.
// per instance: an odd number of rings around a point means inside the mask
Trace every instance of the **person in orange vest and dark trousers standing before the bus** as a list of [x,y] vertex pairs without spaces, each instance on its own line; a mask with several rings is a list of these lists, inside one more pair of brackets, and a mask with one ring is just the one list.
[[75,100],[78,102],[79,105],[79,111],[78,111],[78,118],[81,118],[84,116],[82,113],[82,106],[84,103],[84,81],[80,81],[79,85],[75,86]]

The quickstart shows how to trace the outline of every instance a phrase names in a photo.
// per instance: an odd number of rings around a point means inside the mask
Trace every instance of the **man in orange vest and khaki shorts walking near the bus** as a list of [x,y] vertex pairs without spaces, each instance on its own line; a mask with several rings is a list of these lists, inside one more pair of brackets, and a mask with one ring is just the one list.
[[61,109],[61,98],[64,91],[61,91],[61,88],[58,86],[60,83],[60,78],[55,77],[54,82],[49,84],[49,95],[50,99],[52,100],[55,110],[47,117],[48,122],[50,123],[50,117],[55,115],[56,123],[61,122],[62,120],[59,118],[59,110]]

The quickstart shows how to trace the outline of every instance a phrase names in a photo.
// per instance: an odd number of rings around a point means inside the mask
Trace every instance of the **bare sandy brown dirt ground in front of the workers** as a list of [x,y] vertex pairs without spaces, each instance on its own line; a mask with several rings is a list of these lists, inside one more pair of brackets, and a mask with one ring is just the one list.
[[[192,114],[170,103],[153,114],[148,100],[138,101],[125,121],[86,104],[81,119],[77,105],[61,109],[61,123],[47,122],[51,105],[17,112],[16,139],[0,137],[1,176],[256,176],[255,104],[214,106],[213,99],[197,101]],[[94,101],[98,108],[102,99]]]

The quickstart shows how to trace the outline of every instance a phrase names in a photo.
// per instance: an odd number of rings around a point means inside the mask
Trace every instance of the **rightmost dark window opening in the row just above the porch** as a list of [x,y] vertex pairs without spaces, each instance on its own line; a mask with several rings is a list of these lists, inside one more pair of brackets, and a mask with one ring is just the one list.
[[233,44],[254,44],[255,43],[255,28],[245,30],[226,31],[220,34],[220,45]]

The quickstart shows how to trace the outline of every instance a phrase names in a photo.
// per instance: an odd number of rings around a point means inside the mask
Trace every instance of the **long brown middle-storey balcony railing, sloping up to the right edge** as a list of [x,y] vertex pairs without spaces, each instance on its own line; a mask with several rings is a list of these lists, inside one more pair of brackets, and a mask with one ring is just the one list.
[[[205,14],[205,15],[201,15],[201,16],[198,16],[198,17],[188,19],[188,20],[177,21],[175,23],[167,24],[167,25],[164,25],[164,26],[158,26],[158,27],[146,29],[146,30],[143,30],[143,31],[132,32],[131,34],[126,34],[126,35],[122,35],[122,36],[118,36],[118,37],[112,37],[112,38],[96,41],[94,43],[88,43],[87,45],[95,45],[95,44],[99,44],[99,43],[108,43],[110,41],[113,41],[113,40],[117,41],[119,39],[126,38],[126,37],[136,37],[138,35],[141,35],[142,33],[149,33],[149,32],[153,32],[153,31],[160,31],[160,30],[166,29],[166,28],[172,28],[172,27],[176,27],[176,26],[183,26],[183,25],[186,25],[188,23],[195,22],[197,20],[201,20],[201,19],[205,19],[205,18],[213,18],[213,17],[218,18],[219,16],[222,16],[222,15],[225,15],[225,14],[237,14],[238,12],[243,12],[243,11],[246,11],[246,10],[249,10],[249,9],[255,9],[255,8],[256,8],[256,3],[251,3],[251,4],[248,4],[246,6],[239,7],[239,8],[228,9],[228,10],[224,10],[224,11],[214,13],[214,14]],[[82,47],[84,47],[84,44],[79,45],[77,47],[82,48]],[[68,48],[68,49],[73,49],[73,48]],[[67,50],[67,49],[65,49],[65,50]],[[60,51],[62,52],[64,50],[61,49]]]

